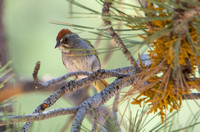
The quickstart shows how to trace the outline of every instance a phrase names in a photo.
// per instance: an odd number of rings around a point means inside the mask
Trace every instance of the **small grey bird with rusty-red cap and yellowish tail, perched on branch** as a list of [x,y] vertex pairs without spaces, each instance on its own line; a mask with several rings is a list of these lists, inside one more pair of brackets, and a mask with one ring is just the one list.
[[[80,38],[68,29],[62,29],[56,38],[56,46],[62,52],[62,61],[68,72],[94,72],[101,69],[97,52],[89,41]],[[76,78],[84,78],[78,76]],[[104,79],[93,83],[97,91],[102,91],[109,83]]]

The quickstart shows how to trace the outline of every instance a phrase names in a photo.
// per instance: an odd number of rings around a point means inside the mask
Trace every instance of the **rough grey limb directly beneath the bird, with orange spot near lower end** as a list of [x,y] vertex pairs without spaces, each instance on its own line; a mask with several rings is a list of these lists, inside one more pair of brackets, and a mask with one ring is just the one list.
[[[129,68],[128,68],[129,69]],[[127,71],[123,69],[124,71]],[[33,113],[41,113],[43,112],[46,108],[52,106],[62,95],[65,93],[73,92],[76,91],[79,88],[85,87],[90,85],[92,82],[102,80],[108,77],[127,77],[130,74],[121,74],[116,71],[120,71],[120,69],[115,69],[115,70],[98,70],[96,72],[90,73],[91,75],[89,77],[86,77],[84,79],[78,80],[78,81],[69,81],[66,83],[65,86],[57,90],[54,94],[52,94],[50,97],[48,97],[42,104],[40,104]],[[73,74],[73,73],[71,73]],[[74,73],[75,74],[75,73]],[[30,122],[27,122],[24,127],[23,131],[28,131],[31,126]]]

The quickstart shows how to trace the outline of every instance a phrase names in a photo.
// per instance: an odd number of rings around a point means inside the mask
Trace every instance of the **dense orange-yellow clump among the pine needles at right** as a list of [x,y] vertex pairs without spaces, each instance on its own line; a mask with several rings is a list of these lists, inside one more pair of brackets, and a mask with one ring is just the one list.
[[[158,11],[156,17],[170,15],[163,7],[155,7],[150,2],[148,3],[149,9]],[[147,14],[154,17],[152,13]],[[142,26],[145,25],[147,29],[146,36],[138,36],[148,39],[151,35],[173,25],[173,22],[173,20],[155,20],[143,23]],[[150,106],[149,113],[159,112],[163,123],[168,111],[173,112],[181,107],[184,94],[190,94],[191,89],[194,88],[199,90],[199,79],[191,79],[191,77],[194,78],[195,70],[199,66],[198,62],[200,62],[197,31],[190,23],[184,26],[184,29],[188,29],[189,34],[186,30],[184,30],[185,34],[181,34],[173,32],[172,29],[148,41],[152,47],[152,50],[149,50],[152,64],[150,67],[143,68],[146,70],[143,76],[148,84],[145,89],[138,88],[139,95],[132,101],[132,104],[140,106],[142,103],[148,104]],[[140,65],[144,67],[141,63]],[[158,70],[152,74],[156,68]]]

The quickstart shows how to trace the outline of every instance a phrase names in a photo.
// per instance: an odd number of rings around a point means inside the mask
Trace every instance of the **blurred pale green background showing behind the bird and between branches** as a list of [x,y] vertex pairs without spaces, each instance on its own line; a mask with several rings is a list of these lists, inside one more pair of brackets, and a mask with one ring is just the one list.
[[[101,12],[101,5],[95,0],[79,0],[79,2],[80,1],[82,4]],[[127,1],[130,2],[130,0]],[[87,13],[86,10],[76,6],[73,6],[73,11]],[[9,56],[10,60],[13,61],[14,70],[19,75],[20,79],[32,79],[33,68],[37,61],[41,61],[40,77],[45,75],[58,77],[66,73],[62,64],[61,53],[58,49],[54,48],[57,33],[62,28],[69,28],[83,38],[94,39],[97,37],[91,33],[76,31],[72,27],[50,23],[51,20],[57,20],[96,28],[102,24],[100,16],[85,18],[86,15],[83,14],[79,15],[81,18],[72,19],[70,18],[69,12],[69,3],[65,0],[5,0],[3,19],[9,44]],[[94,43],[95,40],[91,40],[91,42]],[[105,44],[107,43],[105,42]],[[102,44],[102,47],[106,47],[106,45]],[[134,55],[137,56],[137,52]],[[104,54],[100,54],[99,57],[103,59]],[[115,52],[108,65],[103,67],[112,69],[129,65],[130,64],[121,52]],[[32,111],[48,96],[49,93],[44,94],[43,92],[36,92],[18,97],[15,100],[16,114],[32,113]],[[69,106],[70,105],[66,103],[65,100],[61,99],[50,109]],[[123,113],[124,108],[125,104],[120,106],[119,109],[121,113]],[[131,106],[131,108],[134,115],[139,107]],[[193,101],[184,102],[183,109],[181,109],[179,114],[181,124],[185,126],[188,118],[195,116],[195,112],[198,110],[199,107],[197,107]],[[65,123],[65,120],[66,116],[62,116],[35,122],[32,130],[37,132],[58,131]],[[160,122],[160,118],[152,121],[153,124],[157,122]],[[88,128],[91,127],[88,126],[87,121],[84,123],[84,126]],[[147,126],[147,128],[152,128],[152,125]]]

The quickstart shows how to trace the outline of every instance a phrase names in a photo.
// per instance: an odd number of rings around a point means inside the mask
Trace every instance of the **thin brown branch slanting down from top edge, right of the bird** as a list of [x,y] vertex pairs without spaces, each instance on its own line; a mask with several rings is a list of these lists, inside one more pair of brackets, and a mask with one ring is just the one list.
[[104,24],[107,26],[107,31],[112,36],[116,44],[119,46],[121,51],[124,53],[128,61],[131,63],[131,65],[136,69],[136,71],[139,71],[139,67],[136,63],[136,60],[131,55],[130,51],[126,48],[123,41],[119,37],[119,35],[114,31],[112,27],[112,23],[108,18],[106,18],[110,14],[110,6],[112,5],[111,2],[104,2],[103,9],[102,9],[102,19],[104,21]]

